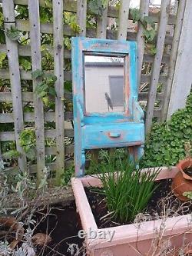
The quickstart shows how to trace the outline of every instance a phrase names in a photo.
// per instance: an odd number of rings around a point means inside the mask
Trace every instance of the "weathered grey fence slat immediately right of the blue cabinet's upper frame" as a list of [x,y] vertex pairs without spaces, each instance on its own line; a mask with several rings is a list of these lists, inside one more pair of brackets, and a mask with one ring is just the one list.
[[[148,15],[149,11],[149,0],[141,0],[140,4],[140,15],[141,18]],[[144,60],[144,28],[141,22],[138,23],[138,32],[137,32],[137,83],[138,88],[141,84],[141,69]]]

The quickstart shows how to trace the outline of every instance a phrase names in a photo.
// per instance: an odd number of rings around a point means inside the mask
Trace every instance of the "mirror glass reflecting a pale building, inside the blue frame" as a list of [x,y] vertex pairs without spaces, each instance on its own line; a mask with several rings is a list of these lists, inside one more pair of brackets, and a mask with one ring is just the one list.
[[124,57],[84,55],[87,113],[124,111]]

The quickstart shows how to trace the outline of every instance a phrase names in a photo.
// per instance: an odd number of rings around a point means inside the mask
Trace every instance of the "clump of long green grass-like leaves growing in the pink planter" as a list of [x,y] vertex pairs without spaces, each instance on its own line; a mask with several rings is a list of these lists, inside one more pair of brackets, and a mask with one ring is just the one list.
[[121,223],[134,221],[135,216],[147,208],[158,186],[154,179],[159,170],[141,172],[127,159],[115,159],[107,155],[105,161],[95,166],[100,172],[98,178],[103,187],[94,188],[94,191],[104,194],[111,218]]

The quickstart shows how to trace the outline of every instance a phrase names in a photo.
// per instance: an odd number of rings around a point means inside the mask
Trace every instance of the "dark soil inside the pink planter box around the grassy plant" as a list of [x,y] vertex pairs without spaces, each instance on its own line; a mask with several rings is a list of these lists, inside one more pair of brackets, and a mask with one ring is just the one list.
[[[192,212],[192,204],[190,202],[179,201],[174,194],[171,193],[172,180],[161,180],[157,181],[159,184],[158,188],[154,191],[147,205],[147,209],[138,221],[151,221],[156,218],[164,216],[164,209],[167,211],[168,217],[173,217],[176,213],[190,214]],[[130,222],[119,223],[118,220],[111,218],[101,218],[108,214],[108,208],[104,200],[104,195],[97,194],[91,188],[85,188],[85,192],[88,196],[88,201],[91,205],[91,210],[94,214],[98,228],[109,228],[115,227],[122,224],[130,224]]]

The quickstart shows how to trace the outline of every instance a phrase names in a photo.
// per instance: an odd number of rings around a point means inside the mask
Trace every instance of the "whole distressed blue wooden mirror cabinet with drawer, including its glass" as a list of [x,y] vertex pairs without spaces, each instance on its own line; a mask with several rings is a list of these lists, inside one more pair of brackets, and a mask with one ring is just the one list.
[[127,147],[131,158],[141,158],[136,42],[75,37],[71,45],[75,175],[84,175],[88,149]]

